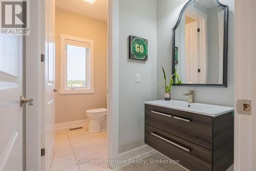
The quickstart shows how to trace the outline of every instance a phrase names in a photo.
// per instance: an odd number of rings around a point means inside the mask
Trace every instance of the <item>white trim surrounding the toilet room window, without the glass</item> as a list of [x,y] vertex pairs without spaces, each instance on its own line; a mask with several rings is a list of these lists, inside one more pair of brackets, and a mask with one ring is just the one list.
[[[94,93],[94,40],[59,34],[60,38],[60,90],[59,94]],[[67,50],[66,45],[90,48],[86,57],[86,88],[67,88]]]

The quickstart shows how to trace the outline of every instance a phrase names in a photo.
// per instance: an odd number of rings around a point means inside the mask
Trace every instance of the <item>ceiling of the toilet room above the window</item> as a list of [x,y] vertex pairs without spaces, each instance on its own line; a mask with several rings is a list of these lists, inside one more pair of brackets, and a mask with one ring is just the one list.
[[107,0],[96,0],[94,4],[82,0],[56,0],[56,7],[106,21]]

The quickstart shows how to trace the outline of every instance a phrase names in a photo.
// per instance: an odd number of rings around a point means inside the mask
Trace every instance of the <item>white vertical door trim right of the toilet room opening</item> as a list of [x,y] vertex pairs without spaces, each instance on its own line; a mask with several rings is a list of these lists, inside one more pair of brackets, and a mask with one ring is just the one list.
[[[108,0],[108,159],[118,159],[119,130],[119,1]],[[114,164],[110,164],[114,168]]]

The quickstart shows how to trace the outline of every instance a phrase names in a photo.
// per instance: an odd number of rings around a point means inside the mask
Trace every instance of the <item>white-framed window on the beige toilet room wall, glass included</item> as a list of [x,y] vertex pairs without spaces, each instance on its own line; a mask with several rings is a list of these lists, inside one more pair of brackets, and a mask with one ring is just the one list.
[[94,93],[94,40],[60,34],[60,94]]

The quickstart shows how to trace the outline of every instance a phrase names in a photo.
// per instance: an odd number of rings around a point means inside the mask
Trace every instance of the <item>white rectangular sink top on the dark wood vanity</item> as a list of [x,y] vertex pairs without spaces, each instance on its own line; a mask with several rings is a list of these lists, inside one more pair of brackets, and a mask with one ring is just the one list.
[[228,112],[232,112],[234,108],[221,105],[212,105],[204,103],[188,103],[186,101],[179,100],[156,100],[156,101],[145,101],[145,104],[151,104],[161,106],[163,108],[176,109],[185,112],[196,113],[200,115],[206,115],[216,117]]

